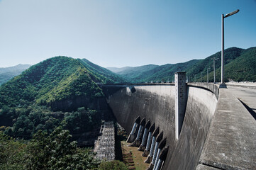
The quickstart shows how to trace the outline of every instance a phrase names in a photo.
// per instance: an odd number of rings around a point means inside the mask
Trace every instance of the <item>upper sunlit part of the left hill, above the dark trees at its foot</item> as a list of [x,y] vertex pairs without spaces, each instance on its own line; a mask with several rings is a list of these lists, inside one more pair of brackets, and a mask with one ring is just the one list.
[[103,72],[104,70],[93,69],[82,60],[70,57],[50,58],[33,65],[0,86],[0,108],[35,102],[62,110],[61,105],[76,98],[83,98],[84,103],[87,103],[103,95],[97,83],[124,81],[110,71],[106,74]]

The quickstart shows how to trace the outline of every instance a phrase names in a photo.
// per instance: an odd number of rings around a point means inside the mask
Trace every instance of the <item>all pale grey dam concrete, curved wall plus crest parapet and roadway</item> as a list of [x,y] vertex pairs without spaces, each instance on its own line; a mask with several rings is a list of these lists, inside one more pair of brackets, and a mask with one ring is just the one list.
[[256,120],[243,105],[255,112],[255,86],[188,85],[179,140],[175,140],[172,84],[111,85],[104,93],[118,123],[128,132],[138,115],[164,132],[169,150],[163,169],[256,169]]

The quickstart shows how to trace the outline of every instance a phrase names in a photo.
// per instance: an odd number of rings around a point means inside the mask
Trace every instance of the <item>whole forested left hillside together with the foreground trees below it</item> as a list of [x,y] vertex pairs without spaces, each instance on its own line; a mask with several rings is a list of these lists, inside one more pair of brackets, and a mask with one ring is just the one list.
[[74,141],[99,128],[98,84],[114,82],[126,80],[87,60],[53,57],[2,84],[0,169],[126,169],[99,162]]

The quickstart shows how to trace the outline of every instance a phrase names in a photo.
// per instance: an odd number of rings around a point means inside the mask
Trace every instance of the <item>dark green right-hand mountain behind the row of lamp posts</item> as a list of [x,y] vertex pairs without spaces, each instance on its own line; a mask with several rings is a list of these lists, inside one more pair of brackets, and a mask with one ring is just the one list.
[[[224,51],[224,54],[225,81],[256,81],[256,47],[250,47],[248,49],[230,47]],[[206,81],[207,68],[209,68],[208,79],[210,82],[213,82],[213,57],[218,59],[215,63],[216,82],[221,81],[221,52],[207,57],[187,70],[187,74],[192,78],[191,80],[201,81],[200,74],[202,73],[202,81]]]

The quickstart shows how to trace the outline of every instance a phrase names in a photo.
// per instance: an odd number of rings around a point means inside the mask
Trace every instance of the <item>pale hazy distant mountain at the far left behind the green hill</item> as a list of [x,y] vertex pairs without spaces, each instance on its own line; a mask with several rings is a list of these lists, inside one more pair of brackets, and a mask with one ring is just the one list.
[[21,74],[21,72],[28,69],[30,66],[29,64],[18,64],[13,67],[0,68],[0,85],[16,77],[18,74]]

